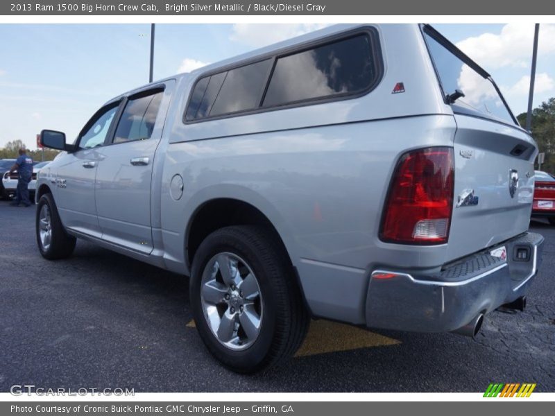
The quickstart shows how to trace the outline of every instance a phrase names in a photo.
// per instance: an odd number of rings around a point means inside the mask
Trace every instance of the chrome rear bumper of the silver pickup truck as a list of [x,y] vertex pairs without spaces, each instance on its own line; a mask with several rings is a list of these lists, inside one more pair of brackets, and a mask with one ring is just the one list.
[[[526,233],[504,242],[506,259],[474,254],[438,275],[381,268],[370,276],[366,298],[368,327],[445,332],[459,329],[479,313],[488,313],[527,293],[538,272],[543,236]],[[516,248],[529,248],[527,261],[516,261]]]

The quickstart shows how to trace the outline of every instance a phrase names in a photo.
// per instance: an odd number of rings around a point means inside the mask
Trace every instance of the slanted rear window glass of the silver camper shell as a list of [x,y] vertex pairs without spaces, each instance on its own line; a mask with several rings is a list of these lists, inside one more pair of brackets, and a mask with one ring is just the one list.
[[458,98],[455,105],[515,124],[492,80],[479,73],[474,62],[465,62],[432,35],[425,32],[424,36],[445,96],[460,89],[464,96]]

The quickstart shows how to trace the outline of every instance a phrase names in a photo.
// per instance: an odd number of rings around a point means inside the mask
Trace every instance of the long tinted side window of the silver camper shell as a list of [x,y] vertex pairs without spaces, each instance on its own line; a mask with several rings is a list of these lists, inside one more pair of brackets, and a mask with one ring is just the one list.
[[357,29],[201,76],[183,121],[354,98],[379,83],[382,68],[377,31]]

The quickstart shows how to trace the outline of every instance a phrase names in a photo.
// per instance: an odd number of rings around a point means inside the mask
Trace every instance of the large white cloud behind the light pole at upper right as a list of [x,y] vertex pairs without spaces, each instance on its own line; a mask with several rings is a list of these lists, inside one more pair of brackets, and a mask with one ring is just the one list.
[[[500,67],[528,67],[533,45],[533,24],[510,23],[503,26],[501,33],[483,33],[458,42],[459,47],[470,58],[487,69]],[[555,52],[555,25],[541,24],[538,56]]]

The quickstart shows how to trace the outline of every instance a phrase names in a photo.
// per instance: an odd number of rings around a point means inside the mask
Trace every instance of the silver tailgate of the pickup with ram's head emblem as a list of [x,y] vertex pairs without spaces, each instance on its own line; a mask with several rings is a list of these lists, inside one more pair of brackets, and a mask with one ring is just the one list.
[[525,232],[536,144],[518,128],[455,114],[455,187],[447,261]]

